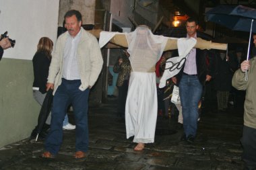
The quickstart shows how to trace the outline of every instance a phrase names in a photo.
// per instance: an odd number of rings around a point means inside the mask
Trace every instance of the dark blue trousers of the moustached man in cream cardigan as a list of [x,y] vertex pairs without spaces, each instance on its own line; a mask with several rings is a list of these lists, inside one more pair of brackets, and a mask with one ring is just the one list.
[[56,155],[63,140],[63,120],[71,103],[75,116],[75,150],[88,151],[88,96],[89,89],[79,90],[80,80],[62,79],[53,97],[51,129],[45,141],[45,149]]

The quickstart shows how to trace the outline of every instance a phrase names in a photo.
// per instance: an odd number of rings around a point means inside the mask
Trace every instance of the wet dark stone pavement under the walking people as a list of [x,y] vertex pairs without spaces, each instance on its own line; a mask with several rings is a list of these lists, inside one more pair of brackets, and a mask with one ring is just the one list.
[[[24,139],[0,148],[0,169],[243,169],[239,142],[243,130],[243,110],[218,114],[214,105],[205,108],[194,144],[181,142],[183,130],[175,116],[158,118],[154,144],[133,151],[135,143],[126,139],[125,122],[115,114],[117,101],[89,110],[90,144],[86,159],[75,160],[75,130],[65,130],[56,159],[42,159],[43,140]],[[69,113],[72,118],[72,114]],[[71,119],[72,121],[72,119]]]

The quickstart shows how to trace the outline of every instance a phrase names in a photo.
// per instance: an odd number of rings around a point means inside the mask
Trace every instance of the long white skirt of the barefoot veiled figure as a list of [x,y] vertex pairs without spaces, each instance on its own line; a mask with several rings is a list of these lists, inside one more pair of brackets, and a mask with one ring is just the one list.
[[127,138],[133,142],[154,142],[158,101],[156,74],[131,72],[125,107]]

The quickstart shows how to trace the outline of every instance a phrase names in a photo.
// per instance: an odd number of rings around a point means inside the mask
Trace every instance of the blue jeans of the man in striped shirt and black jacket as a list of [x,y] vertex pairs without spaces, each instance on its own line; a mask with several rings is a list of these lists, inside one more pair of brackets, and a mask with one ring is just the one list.
[[198,102],[201,99],[203,86],[196,75],[185,75],[179,83],[181,97],[183,128],[186,137],[197,134]]

